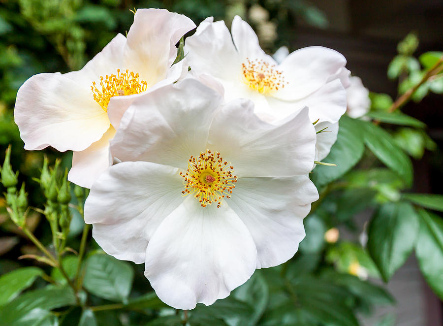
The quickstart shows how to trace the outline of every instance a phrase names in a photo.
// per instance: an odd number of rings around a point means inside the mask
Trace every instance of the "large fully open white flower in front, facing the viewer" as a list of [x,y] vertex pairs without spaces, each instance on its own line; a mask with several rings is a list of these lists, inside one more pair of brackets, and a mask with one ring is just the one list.
[[108,254],[145,262],[165,303],[212,304],[297,251],[315,141],[306,109],[270,125],[194,79],[158,88],[123,116],[111,151],[124,162],[95,181],[85,221]]

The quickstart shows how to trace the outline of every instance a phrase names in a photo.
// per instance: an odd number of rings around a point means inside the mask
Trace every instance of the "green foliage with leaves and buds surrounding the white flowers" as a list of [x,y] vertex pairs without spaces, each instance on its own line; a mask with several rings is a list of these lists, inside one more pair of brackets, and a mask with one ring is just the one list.
[[[252,6],[226,3],[181,0],[168,8],[199,22],[211,15],[229,19]],[[294,16],[327,26],[324,15],[308,2],[276,3],[267,6],[268,21],[280,17],[281,39],[267,43],[268,48],[284,44]],[[212,306],[198,305],[184,312],[158,299],[143,266],[118,261],[99,249],[82,220],[88,191],[66,181],[69,155],[54,160],[52,152],[44,159],[24,153],[12,115],[17,89],[29,76],[82,67],[115,31],[127,29],[132,19],[127,8],[160,3],[9,0],[2,4],[0,145],[12,147],[0,169],[4,187],[0,227],[23,238],[21,244],[26,238],[33,246],[28,251],[22,246],[24,260],[11,265],[13,270],[0,265],[0,325],[354,326],[359,325],[359,313],[394,303],[389,293],[366,278],[388,281],[412,251],[426,281],[443,299],[443,223],[426,210],[442,212],[443,197],[407,193],[413,182],[410,156],[420,159],[436,145],[424,123],[400,112],[409,99],[443,93],[442,52],[427,52],[416,59],[412,54],[418,39],[408,35],[387,71],[390,79],[399,79],[399,98],[371,94],[368,120],[341,119],[337,142],[324,159],[337,166],[318,165],[312,173],[320,199],[305,220],[307,237],[295,257],[282,266],[256,271],[246,284]],[[178,58],[183,55],[180,46]],[[328,230],[339,226],[354,229],[353,217],[368,207],[374,215],[367,246],[327,237]],[[14,258],[19,251],[13,247]],[[386,315],[379,325],[394,321],[395,316]]]

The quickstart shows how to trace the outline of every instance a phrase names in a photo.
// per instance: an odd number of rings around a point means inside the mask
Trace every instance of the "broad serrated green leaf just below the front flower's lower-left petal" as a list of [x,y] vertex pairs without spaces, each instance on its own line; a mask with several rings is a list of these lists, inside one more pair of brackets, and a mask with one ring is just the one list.
[[89,292],[113,301],[127,302],[134,271],[124,261],[97,254],[86,261],[83,285]]

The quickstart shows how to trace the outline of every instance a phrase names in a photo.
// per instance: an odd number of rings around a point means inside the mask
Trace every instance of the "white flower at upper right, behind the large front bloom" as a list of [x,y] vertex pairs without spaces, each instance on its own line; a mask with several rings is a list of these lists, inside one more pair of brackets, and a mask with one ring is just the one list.
[[345,57],[313,46],[294,51],[277,63],[264,53],[253,29],[238,16],[231,33],[223,21],[214,23],[212,17],[198,26],[185,43],[193,74],[215,77],[224,87],[226,100],[251,99],[255,113],[271,123],[307,106],[311,121],[319,120],[316,130],[329,127],[327,131],[331,131],[318,136],[316,158],[326,157],[337,138],[338,126],[332,125],[346,111],[349,71]]

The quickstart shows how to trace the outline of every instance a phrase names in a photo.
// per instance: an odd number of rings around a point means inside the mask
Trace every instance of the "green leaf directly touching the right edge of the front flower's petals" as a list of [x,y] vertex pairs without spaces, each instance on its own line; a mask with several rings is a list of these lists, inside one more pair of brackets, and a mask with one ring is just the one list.
[[328,163],[335,163],[337,166],[316,166],[311,174],[311,179],[317,188],[321,188],[340,178],[348,172],[363,155],[364,145],[358,121],[343,116],[340,119],[339,125],[337,141],[332,145],[329,155],[322,160]]

